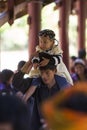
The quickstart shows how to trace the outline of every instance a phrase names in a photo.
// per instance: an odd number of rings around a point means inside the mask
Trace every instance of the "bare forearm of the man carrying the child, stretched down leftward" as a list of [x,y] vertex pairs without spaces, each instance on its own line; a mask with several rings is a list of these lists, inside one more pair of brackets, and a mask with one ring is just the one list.
[[37,86],[31,86],[23,96],[23,100],[26,102],[35,92]]

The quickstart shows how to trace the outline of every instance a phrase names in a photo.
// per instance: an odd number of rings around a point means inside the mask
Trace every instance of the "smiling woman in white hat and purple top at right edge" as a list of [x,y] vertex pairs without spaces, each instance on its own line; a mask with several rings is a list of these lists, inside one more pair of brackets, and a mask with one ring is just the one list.
[[72,79],[74,83],[87,81],[87,73],[85,62],[82,59],[76,59],[74,62],[75,73],[72,74]]

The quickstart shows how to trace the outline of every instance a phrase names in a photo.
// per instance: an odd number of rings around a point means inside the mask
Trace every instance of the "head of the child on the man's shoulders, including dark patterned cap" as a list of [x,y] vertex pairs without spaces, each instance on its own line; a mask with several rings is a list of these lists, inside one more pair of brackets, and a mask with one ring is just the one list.
[[53,47],[55,33],[52,30],[45,29],[39,32],[39,46],[42,50],[49,50]]

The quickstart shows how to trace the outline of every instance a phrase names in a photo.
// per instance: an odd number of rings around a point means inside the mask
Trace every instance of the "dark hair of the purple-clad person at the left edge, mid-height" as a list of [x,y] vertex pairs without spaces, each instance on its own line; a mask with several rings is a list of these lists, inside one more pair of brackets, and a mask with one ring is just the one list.
[[12,77],[13,74],[14,74],[14,72],[12,70],[9,70],[9,69],[2,70],[2,72],[1,72],[1,82],[7,83],[9,81],[9,79]]

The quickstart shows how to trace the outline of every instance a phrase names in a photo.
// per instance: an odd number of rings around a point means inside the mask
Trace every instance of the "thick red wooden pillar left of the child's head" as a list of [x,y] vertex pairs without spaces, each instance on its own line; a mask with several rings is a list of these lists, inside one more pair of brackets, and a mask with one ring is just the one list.
[[28,3],[28,24],[29,24],[29,56],[35,52],[35,47],[38,44],[38,33],[41,28],[41,9],[42,2],[36,0]]

